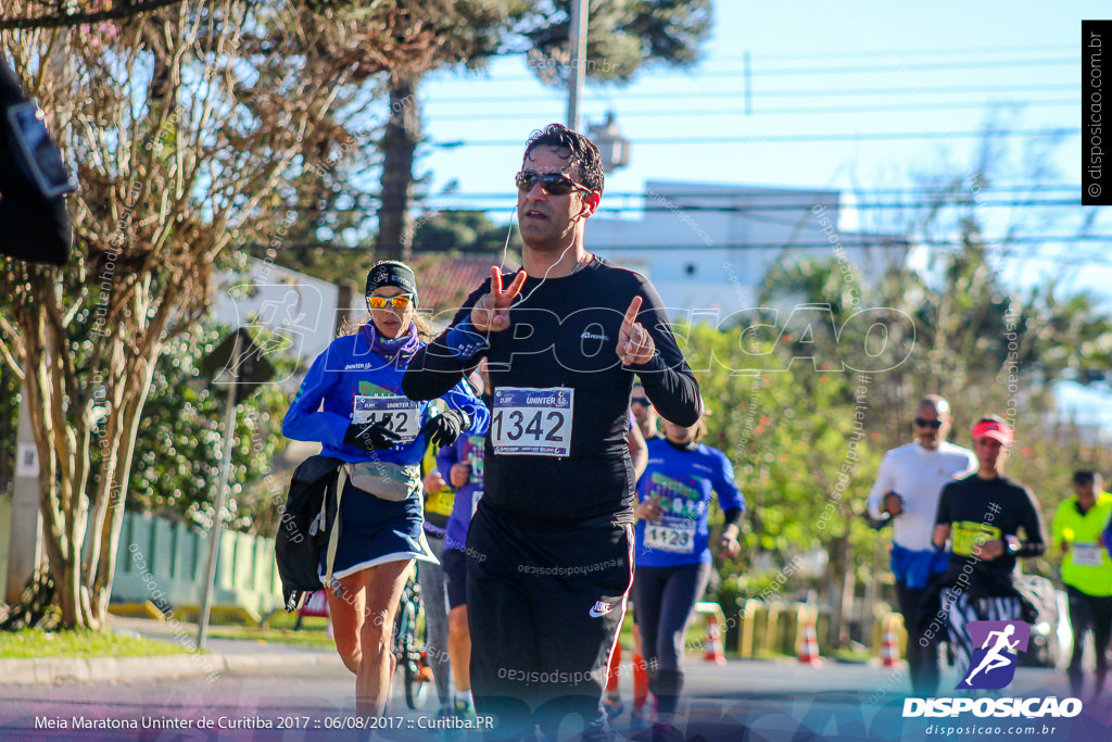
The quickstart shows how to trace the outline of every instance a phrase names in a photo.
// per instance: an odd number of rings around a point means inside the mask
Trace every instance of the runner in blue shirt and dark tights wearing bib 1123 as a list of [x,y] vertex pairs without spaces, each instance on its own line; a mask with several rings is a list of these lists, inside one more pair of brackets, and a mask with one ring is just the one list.
[[725,514],[719,546],[736,556],[745,499],[724,453],[698,443],[705,424],[664,422],[664,438],[648,442],[648,467],[637,483],[635,620],[656,696],[658,722],[671,722],[684,683],[684,642],[695,604],[711,577],[712,493]]

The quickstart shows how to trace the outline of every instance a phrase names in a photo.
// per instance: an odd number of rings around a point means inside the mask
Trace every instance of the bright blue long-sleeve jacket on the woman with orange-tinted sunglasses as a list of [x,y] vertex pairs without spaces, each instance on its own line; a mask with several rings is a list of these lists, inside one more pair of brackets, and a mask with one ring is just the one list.
[[[401,377],[409,358],[391,364],[371,352],[363,333],[346,335],[312,362],[301,382],[294,402],[282,421],[281,432],[295,441],[317,441],[322,444],[321,455],[335,456],[349,463],[385,461],[395,464],[417,464],[425,454],[425,436],[416,435],[408,442],[375,455],[344,443],[348,426],[357,407],[375,405],[381,397],[396,397],[396,413],[413,415],[406,427],[419,431],[428,421],[428,402],[408,402],[401,394]],[[453,409],[467,413],[470,424],[461,435],[484,435],[490,423],[490,413],[466,383],[459,382],[440,397]],[[321,408],[321,403],[324,407]]]

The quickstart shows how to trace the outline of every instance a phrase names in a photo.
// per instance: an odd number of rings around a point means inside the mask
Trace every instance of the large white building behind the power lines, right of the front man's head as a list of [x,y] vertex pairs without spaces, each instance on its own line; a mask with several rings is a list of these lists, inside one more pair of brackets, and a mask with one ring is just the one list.
[[587,246],[648,277],[665,306],[697,314],[755,307],[782,260],[846,261],[867,284],[909,247],[904,236],[840,231],[833,190],[649,181],[645,206],[637,220],[593,218]]

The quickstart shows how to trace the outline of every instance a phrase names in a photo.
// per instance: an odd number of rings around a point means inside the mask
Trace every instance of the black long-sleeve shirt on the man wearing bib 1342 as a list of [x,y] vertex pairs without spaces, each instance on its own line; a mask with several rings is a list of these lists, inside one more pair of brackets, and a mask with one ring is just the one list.
[[[512,278],[504,276],[504,285]],[[487,279],[467,298],[453,325],[469,317],[489,290]],[[643,299],[637,321],[652,335],[656,355],[647,364],[626,367],[616,353],[618,332],[637,295]],[[453,355],[445,335],[421,348],[401,383],[406,396],[440,396],[486,356],[495,407],[486,443],[484,497],[513,515],[542,521],[632,523],[635,481],[626,434],[634,374],[665,419],[693,425],[702,415],[698,382],[676,345],[656,289],[643,276],[595,258],[570,276],[543,284],[529,277],[509,320],[507,329],[490,334],[487,349],[468,359]],[[570,390],[564,393],[572,397],[570,424],[557,424],[563,422],[559,403],[544,402],[556,399],[558,390],[532,396],[542,405],[536,407],[539,415],[529,407],[519,414],[523,408],[508,403],[499,415],[499,398],[509,399],[515,394],[512,388]],[[565,455],[499,453],[492,443],[502,436],[544,446],[566,433]]]

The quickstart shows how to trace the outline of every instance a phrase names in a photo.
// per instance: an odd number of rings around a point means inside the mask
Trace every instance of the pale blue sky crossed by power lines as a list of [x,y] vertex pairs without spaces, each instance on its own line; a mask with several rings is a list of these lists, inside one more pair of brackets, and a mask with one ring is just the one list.
[[[661,179],[857,190],[863,204],[893,198],[871,190],[913,188],[916,172],[964,172],[972,188],[981,182],[975,179],[982,142],[961,135],[981,131],[989,121],[1005,130],[1070,133],[995,138],[995,182],[1017,190],[990,191],[986,201],[1080,199],[1081,139],[1074,132],[1081,119],[1081,20],[1108,16],[1108,3],[717,0],[714,6],[713,37],[695,68],[649,69],[625,88],[588,86],[584,118],[598,122],[613,110],[633,142],[629,167],[607,177],[604,207],[635,208],[637,200],[624,195]],[[753,115],[745,113],[743,95],[746,52]],[[537,82],[524,58],[508,57],[483,75],[438,73],[420,95],[431,144],[421,150],[418,171],[430,176],[428,192],[454,182],[460,194],[492,195],[494,200],[481,204],[508,216],[522,145],[533,129],[564,120],[565,92]],[[936,138],[874,137],[909,132]],[[949,133],[955,136],[945,139]],[[776,140],[815,136],[841,138]],[[662,139],[688,141],[654,144]],[[707,139],[734,141],[698,141]],[[467,144],[437,146],[453,141]],[[477,144],[484,141],[512,144]],[[1040,172],[1033,172],[1036,166]],[[1072,205],[979,209],[990,238],[1015,225],[1029,238],[1073,235],[1086,217],[1095,219],[1091,234],[1110,235],[1108,211],[1093,215]],[[842,227],[867,227],[884,214],[848,210]],[[1112,283],[1103,243],[1016,246],[1003,266],[1021,285],[1048,273],[1066,286],[1100,293]],[[1089,394],[1070,398],[1092,408]]]

